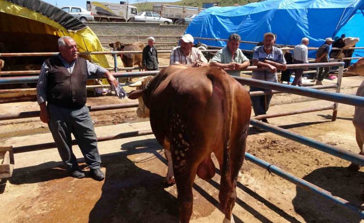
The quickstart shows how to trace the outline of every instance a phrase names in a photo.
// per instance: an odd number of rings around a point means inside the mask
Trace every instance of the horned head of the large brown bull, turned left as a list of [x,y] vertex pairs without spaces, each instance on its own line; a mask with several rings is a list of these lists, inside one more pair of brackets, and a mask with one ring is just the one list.
[[146,106],[146,99],[149,95],[147,93],[147,88],[153,76],[147,76],[140,78],[134,84],[129,85],[129,87],[135,87],[136,90],[129,93],[128,98],[137,99],[139,101],[137,115],[139,118],[149,117],[149,108]]

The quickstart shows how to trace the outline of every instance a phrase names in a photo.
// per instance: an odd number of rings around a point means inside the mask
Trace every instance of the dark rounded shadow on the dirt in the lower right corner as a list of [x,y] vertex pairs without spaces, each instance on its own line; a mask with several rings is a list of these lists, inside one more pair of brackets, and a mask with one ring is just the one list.
[[[325,167],[312,171],[303,177],[333,196],[341,197],[352,205],[361,207],[363,201],[359,195],[364,187],[364,173],[349,171],[345,167]],[[316,193],[310,193],[297,187],[297,195],[292,201],[295,211],[307,223],[359,223],[358,213],[337,204]]]

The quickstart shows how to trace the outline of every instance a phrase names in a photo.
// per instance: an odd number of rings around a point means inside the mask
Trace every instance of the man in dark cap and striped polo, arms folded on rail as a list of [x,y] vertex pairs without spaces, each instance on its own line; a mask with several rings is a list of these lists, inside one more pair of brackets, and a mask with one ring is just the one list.
[[[253,71],[251,79],[269,81],[277,83],[277,69],[286,70],[287,63],[281,49],[274,46],[275,35],[272,32],[264,33],[263,46],[254,48],[253,66],[266,67],[268,70]],[[250,86],[249,92],[264,91],[265,89]],[[251,103],[255,116],[265,115],[272,95],[253,96]],[[267,119],[262,119],[262,122],[268,123]],[[257,128],[258,129],[258,128]],[[258,129],[260,130],[260,129]]]

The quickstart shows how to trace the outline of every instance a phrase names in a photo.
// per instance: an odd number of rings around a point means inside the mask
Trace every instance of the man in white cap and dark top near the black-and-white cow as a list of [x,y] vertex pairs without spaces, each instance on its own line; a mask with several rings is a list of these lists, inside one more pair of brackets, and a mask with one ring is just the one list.
[[[317,63],[328,63],[329,62],[329,53],[330,53],[330,46],[334,42],[334,39],[331,37],[325,39],[325,43],[322,44],[316,53],[315,61]],[[316,85],[323,85],[322,81],[330,72],[330,66],[319,67],[319,72],[317,75]]]

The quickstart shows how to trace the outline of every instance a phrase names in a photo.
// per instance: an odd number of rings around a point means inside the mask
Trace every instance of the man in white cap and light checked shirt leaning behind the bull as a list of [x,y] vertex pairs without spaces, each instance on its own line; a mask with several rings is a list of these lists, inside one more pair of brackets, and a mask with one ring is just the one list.
[[208,66],[207,59],[202,52],[192,47],[193,41],[192,35],[184,34],[181,38],[181,46],[173,48],[169,64],[186,64],[192,67]]

